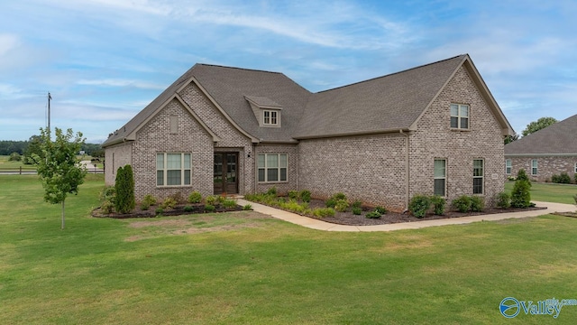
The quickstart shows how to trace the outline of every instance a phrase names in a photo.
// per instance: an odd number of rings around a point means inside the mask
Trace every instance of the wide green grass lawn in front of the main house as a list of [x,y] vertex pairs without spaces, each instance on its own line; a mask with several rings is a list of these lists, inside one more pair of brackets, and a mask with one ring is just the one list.
[[102,175],[60,206],[35,176],[0,176],[5,324],[569,324],[499,302],[577,299],[577,219],[378,233],[256,212],[91,218]]

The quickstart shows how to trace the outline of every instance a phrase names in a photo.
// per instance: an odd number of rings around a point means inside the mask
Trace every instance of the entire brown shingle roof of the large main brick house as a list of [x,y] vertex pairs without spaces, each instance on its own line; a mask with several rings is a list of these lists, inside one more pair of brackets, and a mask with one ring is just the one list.
[[[191,79],[196,80],[246,134],[260,141],[293,142],[300,138],[408,129],[465,61],[472,67],[469,56],[460,55],[315,94],[279,72],[196,64],[114,132],[103,146],[130,139],[129,135],[133,136],[140,125]],[[484,87],[482,80],[479,81]],[[248,99],[257,106],[281,108],[282,126],[259,126]],[[510,131],[499,107],[496,109],[501,125]]]

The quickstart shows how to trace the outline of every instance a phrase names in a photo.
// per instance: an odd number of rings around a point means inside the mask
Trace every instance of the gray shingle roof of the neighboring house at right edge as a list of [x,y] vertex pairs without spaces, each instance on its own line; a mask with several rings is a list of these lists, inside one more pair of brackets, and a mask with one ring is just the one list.
[[505,145],[505,155],[577,154],[577,115]]

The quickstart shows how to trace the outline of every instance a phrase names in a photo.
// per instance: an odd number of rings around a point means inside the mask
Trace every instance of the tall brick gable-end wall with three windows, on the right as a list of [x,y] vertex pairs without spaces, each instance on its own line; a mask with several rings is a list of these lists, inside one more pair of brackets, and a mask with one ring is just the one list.
[[[450,105],[470,106],[470,129],[450,128]],[[433,194],[434,160],[447,160],[447,199],[472,195],[472,161],[484,159],[484,195],[488,205],[504,188],[503,138],[479,89],[462,67],[449,81],[410,138],[410,196]]]

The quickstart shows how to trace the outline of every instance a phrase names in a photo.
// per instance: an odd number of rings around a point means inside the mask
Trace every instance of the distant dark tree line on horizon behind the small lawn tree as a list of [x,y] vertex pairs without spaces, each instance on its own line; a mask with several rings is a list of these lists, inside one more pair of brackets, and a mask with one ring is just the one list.
[[[32,153],[41,155],[41,141],[40,135],[32,135],[28,141],[0,140],[0,155],[9,155],[11,160],[22,160],[23,163],[32,163]],[[96,158],[105,156],[100,144],[82,144],[80,150]]]

